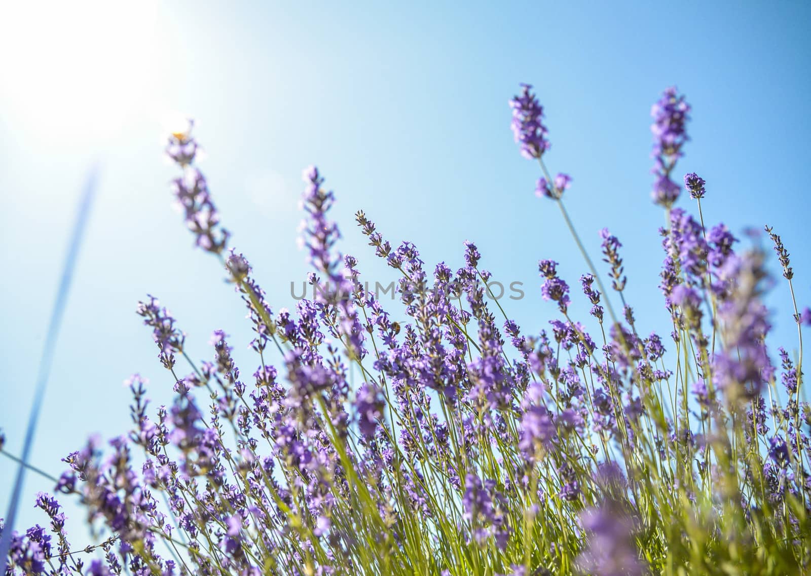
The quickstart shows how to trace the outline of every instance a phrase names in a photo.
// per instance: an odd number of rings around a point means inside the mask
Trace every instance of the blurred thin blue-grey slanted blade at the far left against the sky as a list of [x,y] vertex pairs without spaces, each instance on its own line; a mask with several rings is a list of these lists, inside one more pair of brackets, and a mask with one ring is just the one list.
[[79,247],[81,246],[82,238],[84,236],[84,228],[88,223],[93,196],[95,196],[96,193],[98,172],[99,166],[97,164],[92,165],[88,172],[88,178],[84,184],[84,191],[81,199],[79,200],[79,208],[76,211],[76,220],[73,226],[73,233],[71,234],[71,241],[68,244],[67,254],[65,256],[65,264],[62,267],[62,277],[59,280],[56,299],[54,299],[54,307],[51,310],[48,333],[45,337],[45,347],[42,349],[40,368],[36,376],[34,402],[31,406],[31,413],[28,415],[28,428],[25,430],[23,451],[20,454],[21,462],[17,467],[17,476],[14,483],[14,490],[11,492],[11,501],[9,502],[8,512],[6,513],[6,522],[2,529],[2,535],[0,535],[0,565],[2,565],[0,574],[6,574],[8,552],[11,548],[11,531],[14,529],[14,521],[17,515],[17,508],[19,506],[19,498],[23,491],[25,471],[28,467],[28,457],[30,456],[31,447],[34,443],[36,423],[39,420],[42,401],[45,398],[45,389],[48,385],[48,376],[50,374],[51,363],[54,359],[54,349],[56,348],[59,328],[62,325],[62,316],[64,316],[67,296],[71,289],[73,269],[75,268],[76,258],[79,256]]

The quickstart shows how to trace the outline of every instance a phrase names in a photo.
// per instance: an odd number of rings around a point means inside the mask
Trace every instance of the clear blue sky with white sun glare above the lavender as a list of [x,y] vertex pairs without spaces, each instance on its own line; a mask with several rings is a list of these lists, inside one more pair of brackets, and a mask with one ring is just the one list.
[[[0,426],[19,453],[41,344],[79,190],[101,161],[97,204],[36,436],[33,462],[59,459],[92,432],[130,427],[122,380],[150,380],[169,402],[135,303],[155,294],[211,355],[232,334],[242,373],[249,326],[223,271],[191,249],[171,208],[161,157],[169,119],[189,114],[234,245],[275,310],[294,306],[306,271],[296,244],[300,174],[319,165],[337,193],[341,248],[371,280],[393,279],[354,226],[363,208],[431,267],[482,265],[526,297],[502,303],[537,332],[555,308],[539,297],[537,260],[585,272],[556,208],[534,196],[536,165],[509,131],[508,99],[535,84],[553,172],[568,172],[570,212],[596,255],[597,231],[624,242],[629,300],[645,333],[663,329],[658,285],[662,210],[650,202],[650,105],[676,84],[693,105],[677,172],[707,181],[708,224],[775,226],[811,303],[811,4],[808,2],[6,2],[0,8]],[[682,205],[690,205],[682,199]],[[692,206],[691,206],[692,208]],[[775,263],[776,264],[776,263]],[[796,335],[787,286],[769,299],[775,340]],[[576,313],[585,313],[574,298]],[[393,305],[396,306],[396,303]],[[667,331],[667,329],[663,329]],[[0,459],[0,508],[14,467]],[[28,475],[20,523],[49,482]],[[67,499],[66,499],[67,500]],[[30,506],[28,505],[30,503]],[[69,514],[78,517],[74,508]],[[75,536],[77,547],[86,542]]]

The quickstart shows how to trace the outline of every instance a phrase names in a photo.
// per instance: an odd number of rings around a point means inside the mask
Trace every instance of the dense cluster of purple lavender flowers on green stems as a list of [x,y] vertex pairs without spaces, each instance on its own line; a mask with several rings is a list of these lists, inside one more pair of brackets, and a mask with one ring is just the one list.
[[[152,296],[152,331],[174,401],[152,410],[128,380],[132,428],[65,458],[55,492],[78,496],[100,535],[92,561],[68,544],[53,495],[49,529],[15,533],[6,574],[800,574],[811,570],[811,408],[799,354],[766,340],[766,253],[706,226],[706,182],[684,176],[699,217],[676,207],[689,105],[668,88],[652,110],[653,198],[666,211],[660,288],[670,321],[648,332],[626,302],[622,243],[599,232],[595,265],[552,178],[543,108],[510,102],[521,154],[539,162],[584,258],[581,290],[539,261],[549,328],[523,333],[486,298],[474,243],[465,266],[427,266],[366,214],[360,231],[401,277],[384,310],[354,256],[337,251],[335,197],[304,172],[303,239],[313,299],[272,310],[229,247],[188,131],[166,152],[195,244],[225,269],[253,330],[252,374],[212,333],[208,359]],[[783,277],[793,272],[782,240]],[[595,235],[595,240],[596,240]],[[603,279],[610,280],[609,292]],[[411,286],[423,286],[412,290]],[[575,320],[574,299],[590,304]],[[619,314],[613,303],[620,303]],[[400,319],[400,320],[397,320]],[[350,384],[350,374],[359,384]]]

